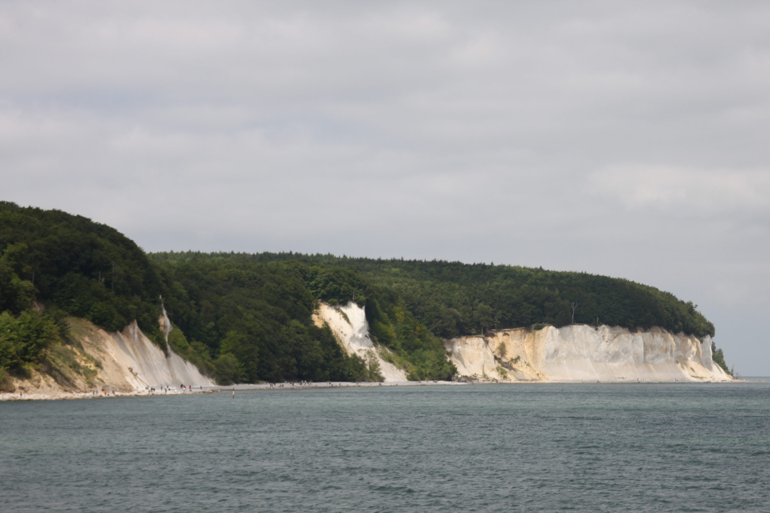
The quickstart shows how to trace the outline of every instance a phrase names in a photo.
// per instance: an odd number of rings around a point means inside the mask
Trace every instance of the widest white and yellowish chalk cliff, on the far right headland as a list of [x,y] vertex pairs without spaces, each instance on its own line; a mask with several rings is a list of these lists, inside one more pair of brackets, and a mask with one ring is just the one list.
[[569,325],[490,331],[445,342],[458,373],[526,381],[728,381],[711,359],[711,338],[662,328]]

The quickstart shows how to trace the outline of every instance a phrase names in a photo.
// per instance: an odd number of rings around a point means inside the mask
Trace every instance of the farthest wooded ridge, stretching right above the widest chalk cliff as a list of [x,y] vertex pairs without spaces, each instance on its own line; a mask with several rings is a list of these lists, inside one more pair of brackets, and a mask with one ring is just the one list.
[[453,337],[482,328],[574,322],[649,328],[661,326],[688,335],[714,335],[711,324],[691,302],[634,281],[588,273],[546,271],[508,265],[447,261],[380,260],[297,253],[162,253],[158,261],[196,258],[239,264],[305,261],[357,271],[375,288],[403,298],[417,321],[435,335]]

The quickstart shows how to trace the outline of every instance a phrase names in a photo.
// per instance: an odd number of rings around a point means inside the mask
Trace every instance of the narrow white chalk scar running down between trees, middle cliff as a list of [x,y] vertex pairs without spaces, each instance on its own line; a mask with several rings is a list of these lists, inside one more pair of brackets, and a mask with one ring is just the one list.
[[359,355],[363,361],[375,358],[380,364],[380,375],[385,381],[407,381],[407,373],[392,363],[383,360],[380,351],[387,348],[374,345],[369,336],[366,311],[352,301],[344,306],[330,306],[321,303],[313,314],[316,326],[329,325],[334,337],[348,355]]

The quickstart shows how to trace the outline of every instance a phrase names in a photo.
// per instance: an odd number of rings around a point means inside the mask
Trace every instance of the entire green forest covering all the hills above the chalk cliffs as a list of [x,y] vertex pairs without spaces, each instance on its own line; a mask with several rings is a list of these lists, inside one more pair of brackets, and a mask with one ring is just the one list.
[[296,253],[148,255],[88,218],[0,202],[0,378],[45,365],[48,348],[69,340],[67,318],[109,331],[136,320],[167,351],[164,306],[177,328],[168,345],[219,383],[379,380],[313,325],[318,301],[365,308],[374,341],[415,380],[451,378],[443,338],[488,329],[575,322],[714,335],[696,305],[621,278]]

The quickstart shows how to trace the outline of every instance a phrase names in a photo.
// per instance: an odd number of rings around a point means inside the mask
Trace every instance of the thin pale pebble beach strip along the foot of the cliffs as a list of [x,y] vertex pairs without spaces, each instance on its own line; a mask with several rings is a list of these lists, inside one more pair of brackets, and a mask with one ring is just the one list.
[[[770,379],[770,378],[768,378]],[[125,397],[155,397],[164,395],[192,395],[192,394],[214,394],[228,391],[278,391],[278,390],[309,390],[313,388],[369,388],[369,387],[415,387],[415,386],[447,386],[447,385],[547,385],[547,384],[617,384],[617,385],[688,385],[688,384],[714,384],[714,383],[748,383],[755,380],[732,379],[730,381],[702,380],[702,381],[670,381],[670,380],[611,380],[611,381],[592,381],[592,380],[542,380],[542,381],[322,381],[322,382],[284,382],[271,385],[270,383],[242,383],[238,385],[215,385],[206,386],[192,390],[180,390],[179,388],[169,388],[169,391],[150,392],[146,390],[136,390],[130,392],[113,391],[109,394],[93,392],[65,392],[60,393],[25,393],[21,395],[18,392],[0,393],[0,402],[2,401],[58,401],[68,399],[99,399],[99,398],[125,398]]]

